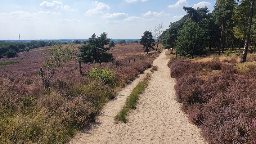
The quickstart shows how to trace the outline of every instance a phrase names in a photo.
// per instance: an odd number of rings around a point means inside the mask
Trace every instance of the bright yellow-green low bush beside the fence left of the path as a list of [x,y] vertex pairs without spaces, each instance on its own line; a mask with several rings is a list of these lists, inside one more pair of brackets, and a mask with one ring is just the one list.
[[97,68],[95,66],[89,72],[89,75],[93,78],[99,78],[104,84],[111,84],[114,80],[114,71],[107,68]]

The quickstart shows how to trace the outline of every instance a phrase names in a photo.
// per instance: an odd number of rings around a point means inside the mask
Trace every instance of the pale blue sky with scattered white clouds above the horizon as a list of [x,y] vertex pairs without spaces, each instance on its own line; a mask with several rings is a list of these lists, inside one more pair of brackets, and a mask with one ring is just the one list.
[[158,23],[165,29],[185,13],[183,6],[215,0],[1,0],[0,40],[88,39],[107,32],[111,39],[140,39]]

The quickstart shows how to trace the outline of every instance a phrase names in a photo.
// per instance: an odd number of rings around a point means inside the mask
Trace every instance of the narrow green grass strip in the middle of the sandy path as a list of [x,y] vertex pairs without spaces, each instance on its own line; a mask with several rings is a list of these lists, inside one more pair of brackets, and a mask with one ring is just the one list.
[[125,106],[122,107],[121,111],[115,116],[116,123],[123,121],[126,123],[126,114],[130,109],[136,109],[136,102],[139,99],[139,94],[148,86],[148,81],[151,78],[151,73],[147,73],[146,77],[140,82],[133,90],[133,92],[127,97]]

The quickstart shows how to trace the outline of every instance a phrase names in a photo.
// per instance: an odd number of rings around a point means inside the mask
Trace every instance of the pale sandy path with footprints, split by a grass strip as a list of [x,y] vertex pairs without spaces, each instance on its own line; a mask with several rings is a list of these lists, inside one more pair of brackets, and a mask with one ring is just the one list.
[[[188,121],[175,100],[175,79],[166,66],[166,50],[154,60],[158,71],[152,73],[149,86],[140,95],[137,109],[131,111],[127,123],[114,124],[114,116],[127,96],[146,73],[127,85],[105,105],[96,122],[75,136],[70,144],[203,144],[199,129]],[[148,70],[147,70],[148,71]]]

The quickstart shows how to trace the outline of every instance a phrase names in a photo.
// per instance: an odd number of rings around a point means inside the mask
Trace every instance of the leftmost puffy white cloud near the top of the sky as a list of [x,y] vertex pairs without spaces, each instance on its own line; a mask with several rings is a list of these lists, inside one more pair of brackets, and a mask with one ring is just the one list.
[[74,11],[73,9],[70,9],[69,6],[62,5],[62,2],[60,1],[53,1],[52,3],[49,3],[47,1],[43,1],[40,5],[39,5],[40,9],[63,9],[63,10],[71,10]]

